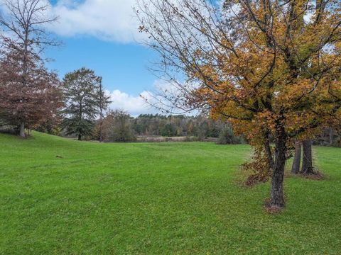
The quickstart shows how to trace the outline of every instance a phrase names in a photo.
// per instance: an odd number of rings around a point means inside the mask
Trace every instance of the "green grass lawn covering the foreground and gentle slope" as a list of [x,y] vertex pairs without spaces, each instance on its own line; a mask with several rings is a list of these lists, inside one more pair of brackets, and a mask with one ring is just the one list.
[[0,254],[341,254],[341,149],[314,150],[325,179],[288,176],[270,215],[247,145],[0,135]]

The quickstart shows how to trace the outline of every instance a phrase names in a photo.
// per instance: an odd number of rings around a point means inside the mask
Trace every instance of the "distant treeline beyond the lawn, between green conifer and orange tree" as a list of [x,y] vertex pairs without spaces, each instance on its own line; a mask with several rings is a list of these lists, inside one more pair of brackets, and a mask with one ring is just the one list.
[[[245,143],[243,137],[232,132],[228,123],[212,120],[204,115],[142,114],[134,118],[124,111],[109,111],[102,123],[104,142],[132,142],[137,137],[187,137],[186,140],[217,138],[220,144]],[[92,140],[99,138],[99,123],[95,125]]]

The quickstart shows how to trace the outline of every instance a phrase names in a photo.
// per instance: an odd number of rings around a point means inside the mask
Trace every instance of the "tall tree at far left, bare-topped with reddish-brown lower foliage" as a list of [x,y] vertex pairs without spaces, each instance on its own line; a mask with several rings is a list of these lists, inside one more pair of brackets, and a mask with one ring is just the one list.
[[[5,0],[0,18],[1,35],[0,108],[25,137],[27,125],[53,118],[60,108],[59,81],[44,67],[40,57],[46,46],[58,45],[44,27],[56,21],[48,17],[42,0]],[[37,107],[39,106],[39,107]]]

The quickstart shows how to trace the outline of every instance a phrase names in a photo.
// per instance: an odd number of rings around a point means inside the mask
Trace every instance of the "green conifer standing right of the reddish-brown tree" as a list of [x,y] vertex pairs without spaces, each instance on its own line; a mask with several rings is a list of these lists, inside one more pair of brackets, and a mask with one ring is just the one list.
[[78,140],[82,140],[83,136],[92,134],[94,120],[99,113],[100,81],[101,77],[85,67],[65,74],[63,79],[65,118],[62,127],[65,128],[66,135],[76,135]]

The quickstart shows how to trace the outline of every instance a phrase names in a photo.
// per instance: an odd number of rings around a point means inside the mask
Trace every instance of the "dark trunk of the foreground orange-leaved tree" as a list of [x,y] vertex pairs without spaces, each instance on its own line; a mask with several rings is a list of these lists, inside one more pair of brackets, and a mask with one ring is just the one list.
[[[280,123],[280,121],[278,121]],[[276,132],[276,159],[271,180],[271,198],[269,208],[281,209],[285,205],[283,192],[284,169],[286,166],[286,132],[278,125]]]

